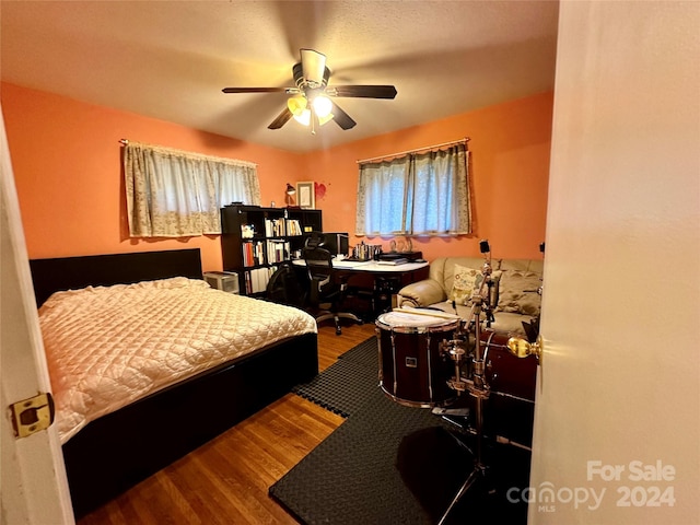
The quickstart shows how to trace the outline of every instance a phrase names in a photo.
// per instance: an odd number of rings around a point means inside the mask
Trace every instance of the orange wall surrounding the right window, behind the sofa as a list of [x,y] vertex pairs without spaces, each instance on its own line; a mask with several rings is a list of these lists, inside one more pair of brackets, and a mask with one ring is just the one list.
[[[539,243],[545,240],[552,103],[553,93],[544,93],[307,154],[308,173],[319,174],[317,182],[327,187],[326,196],[316,200],[324,210],[324,229],[354,231],[358,160],[469,137],[474,233],[458,238],[413,238],[413,248],[429,260],[479,255],[477,241],[488,238],[494,257],[539,258]],[[364,238],[385,249],[389,241]]]

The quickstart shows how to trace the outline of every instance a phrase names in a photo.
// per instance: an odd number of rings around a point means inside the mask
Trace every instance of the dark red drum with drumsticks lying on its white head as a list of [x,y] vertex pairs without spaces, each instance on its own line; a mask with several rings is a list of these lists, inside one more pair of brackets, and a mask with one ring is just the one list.
[[[454,361],[440,343],[454,338],[458,319],[388,312],[376,319],[380,386],[401,405],[432,408],[448,405],[457,393],[447,386]],[[446,352],[444,352],[446,353]]]

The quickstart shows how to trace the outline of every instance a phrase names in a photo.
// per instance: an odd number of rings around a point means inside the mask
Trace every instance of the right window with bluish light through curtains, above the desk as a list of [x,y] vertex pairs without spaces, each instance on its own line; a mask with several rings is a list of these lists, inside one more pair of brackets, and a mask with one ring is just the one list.
[[471,233],[465,144],[360,164],[358,235]]

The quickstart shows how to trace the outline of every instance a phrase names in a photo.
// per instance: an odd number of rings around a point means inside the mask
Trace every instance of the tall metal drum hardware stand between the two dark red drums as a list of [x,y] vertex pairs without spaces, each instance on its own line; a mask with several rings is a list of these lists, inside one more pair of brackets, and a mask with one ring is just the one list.
[[[482,242],[482,247],[483,247]],[[486,244],[488,247],[488,244]],[[483,249],[483,248],[482,248]],[[474,469],[471,474],[464,481],[454,499],[447,506],[447,510],[443,514],[442,518],[439,522],[439,525],[442,525],[450,512],[452,512],[453,508],[457,504],[457,502],[462,499],[462,497],[469,490],[469,488],[477,482],[479,479],[485,478],[487,475],[487,465],[483,463],[483,400],[488,399],[490,387],[486,381],[485,369],[486,369],[486,358],[487,355],[481,352],[481,322],[480,317],[483,313],[487,318],[487,323],[490,319],[491,315],[491,304],[490,304],[490,291],[491,291],[491,260],[490,260],[490,252],[487,249],[485,252],[487,255],[486,262],[483,264],[483,268],[481,273],[483,275],[483,279],[481,281],[481,285],[479,287],[478,293],[474,294],[471,298],[472,306],[471,312],[469,314],[469,324],[467,328],[469,329],[470,325],[474,325],[474,336],[475,336],[475,349],[474,349],[474,358],[471,360],[472,372],[471,372],[471,381],[463,381],[460,374],[460,368],[458,360],[460,359],[460,353],[455,352],[457,355],[454,355],[451,351],[451,357],[455,359],[455,372],[456,372],[456,381],[450,382],[450,386],[452,388],[457,389],[458,392],[466,387],[469,390],[469,395],[476,399],[476,416],[475,416],[475,425],[476,425],[476,453],[475,453],[475,462]],[[487,349],[488,351],[488,349]]]

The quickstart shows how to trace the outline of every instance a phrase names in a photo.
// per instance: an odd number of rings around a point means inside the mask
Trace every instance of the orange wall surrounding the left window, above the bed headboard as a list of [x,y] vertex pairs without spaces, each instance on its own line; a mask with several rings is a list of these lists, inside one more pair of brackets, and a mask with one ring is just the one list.
[[294,153],[8,83],[1,97],[31,258],[194,247],[205,270],[222,268],[218,235],[129,238],[122,138],[255,162],[265,205],[300,178]]

